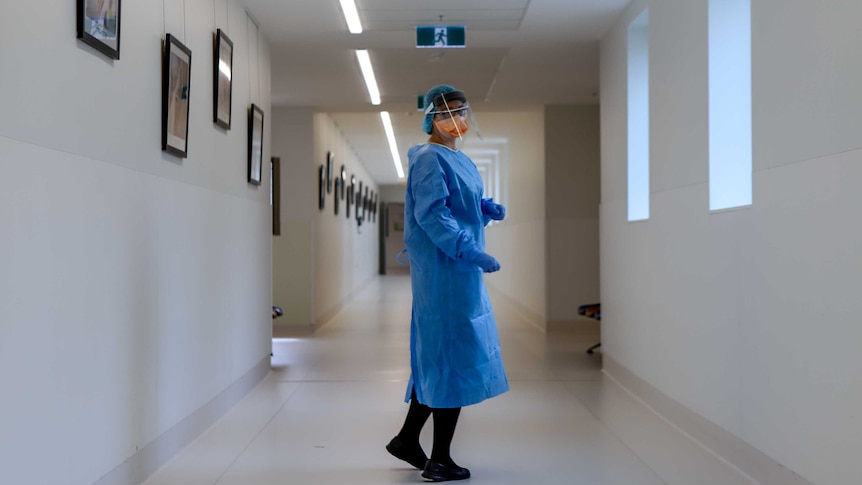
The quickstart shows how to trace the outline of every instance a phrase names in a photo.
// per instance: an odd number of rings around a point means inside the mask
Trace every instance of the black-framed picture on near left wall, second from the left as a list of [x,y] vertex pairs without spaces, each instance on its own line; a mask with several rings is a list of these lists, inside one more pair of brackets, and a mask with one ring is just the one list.
[[167,34],[162,66],[162,150],[182,158],[189,153],[191,73],[192,51]]

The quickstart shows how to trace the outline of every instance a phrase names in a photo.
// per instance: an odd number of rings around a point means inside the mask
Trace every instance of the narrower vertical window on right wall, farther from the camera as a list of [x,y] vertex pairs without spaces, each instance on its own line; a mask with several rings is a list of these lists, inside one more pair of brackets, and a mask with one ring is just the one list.
[[628,31],[629,220],[649,219],[649,17],[644,10]]

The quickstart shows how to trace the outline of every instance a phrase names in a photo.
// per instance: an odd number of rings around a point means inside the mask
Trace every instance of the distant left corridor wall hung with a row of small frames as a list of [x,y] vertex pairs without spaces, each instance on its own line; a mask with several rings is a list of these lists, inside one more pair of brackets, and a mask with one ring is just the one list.
[[[281,159],[281,235],[273,236],[273,295],[284,310],[275,320],[277,336],[297,328],[319,327],[335,316],[353,294],[377,274],[378,224],[371,213],[356,220],[347,195],[351,177],[377,193],[362,161],[327,113],[279,107],[273,117],[273,155]],[[318,170],[332,154],[332,188],[319,208]],[[344,198],[335,178],[344,166]],[[338,197],[338,214],[335,198]]]

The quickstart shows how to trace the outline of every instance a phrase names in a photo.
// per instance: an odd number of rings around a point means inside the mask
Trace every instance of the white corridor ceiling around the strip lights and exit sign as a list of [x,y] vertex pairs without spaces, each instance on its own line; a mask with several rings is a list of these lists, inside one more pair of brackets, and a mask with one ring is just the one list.
[[[599,39],[630,0],[356,0],[350,34],[338,0],[245,0],[271,44],[272,103],[330,113],[377,184],[399,183],[379,112],[402,163],[421,132],[416,96],[451,84],[482,111],[598,102]],[[441,20],[442,19],[442,20]],[[464,49],[417,49],[417,25],[464,25]],[[355,49],[368,49],[373,106]]]

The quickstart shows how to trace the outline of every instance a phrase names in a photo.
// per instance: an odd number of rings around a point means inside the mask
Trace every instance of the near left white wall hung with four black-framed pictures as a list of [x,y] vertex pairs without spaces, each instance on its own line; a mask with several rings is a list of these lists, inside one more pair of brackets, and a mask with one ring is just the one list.
[[[123,2],[111,61],[74,19],[60,0],[0,15],[4,484],[137,483],[269,369],[268,171],[246,182],[265,39],[232,0]],[[235,46],[230,131],[212,122],[217,27]],[[165,30],[192,50],[182,160],[160,145]]]

